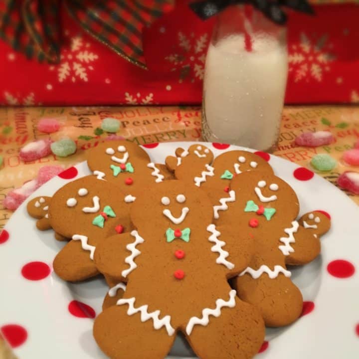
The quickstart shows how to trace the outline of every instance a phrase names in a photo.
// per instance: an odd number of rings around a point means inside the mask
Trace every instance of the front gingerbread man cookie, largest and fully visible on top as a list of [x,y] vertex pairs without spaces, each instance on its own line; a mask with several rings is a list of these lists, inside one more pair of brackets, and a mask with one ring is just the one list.
[[205,192],[179,180],[144,190],[131,220],[136,230],[105,238],[95,251],[99,271],[127,282],[95,320],[100,348],[111,358],[161,359],[180,331],[199,358],[254,356],[263,320],[227,283],[249,265],[252,239],[221,235]]

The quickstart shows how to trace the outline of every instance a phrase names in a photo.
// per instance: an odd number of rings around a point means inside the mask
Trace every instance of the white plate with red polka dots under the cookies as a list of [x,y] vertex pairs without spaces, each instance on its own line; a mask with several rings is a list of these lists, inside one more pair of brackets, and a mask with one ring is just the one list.
[[[198,143],[196,143],[198,144]],[[153,162],[164,163],[177,147],[191,143],[163,143],[145,149]],[[215,149],[203,143],[215,156],[234,149]],[[292,268],[292,279],[301,289],[305,301],[315,303],[314,310],[296,323],[276,330],[267,330],[267,350],[258,359],[351,359],[359,358],[359,280],[358,271],[349,278],[339,279],[328,273],[327,265],[343,259],[359,263],[359,209],[335,186],[314,176],[295,179],[293,163],[270,156],[275,173],[297,192],[301,214],[322,209],[332,216],[332,228],[322,238],[322,254],[311,264]],[[86,163],[76,166],[76,178],[89,175]],[[51,196],[68,179],[56,177],[39,188],[32,197]],[[27,201],[26,201],[27,202]],[[55,273],[42,280],[30,281],[21,275],[29,262],[49,264],[64,245],[53,237],[53,231],[36,230],[35,220],[26,213],[23,203],[5,226],[9,239],[0,244],[0,327],[18,324],[26,329],[26,341],[14,349],[20,359],[28,358],[106,358],[92,337],[93,319],[70,314],[68,305],[77,300],[100,313],[107,286],[98,278],[81,284],[69,284]],[[357,331],[357,332],[356,332]],[[171,358],[191,356],[182,339],[176,340]],[[256,357],[256,358],[257,358]]]

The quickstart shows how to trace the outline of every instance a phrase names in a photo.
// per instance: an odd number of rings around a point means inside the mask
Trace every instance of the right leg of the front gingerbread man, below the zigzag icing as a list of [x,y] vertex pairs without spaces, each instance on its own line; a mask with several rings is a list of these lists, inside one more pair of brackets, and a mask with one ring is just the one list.
[[234,308],[222,308],[218,318],[209,318],[207,326],[195,325],[187,336],[198,358],[247,359],[258,353],[265,329],[253,306],[236,297]]

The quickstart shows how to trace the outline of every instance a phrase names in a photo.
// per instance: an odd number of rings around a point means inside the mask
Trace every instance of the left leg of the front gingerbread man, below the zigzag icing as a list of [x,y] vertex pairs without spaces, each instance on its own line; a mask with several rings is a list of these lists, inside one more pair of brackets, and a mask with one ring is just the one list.
[[93,334],[102,351],[112,359],[161,359],[169,353],[176,334],[154,328],[152,319],[129,315],[129,306],[112,306],[95,320]]

